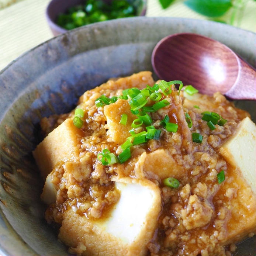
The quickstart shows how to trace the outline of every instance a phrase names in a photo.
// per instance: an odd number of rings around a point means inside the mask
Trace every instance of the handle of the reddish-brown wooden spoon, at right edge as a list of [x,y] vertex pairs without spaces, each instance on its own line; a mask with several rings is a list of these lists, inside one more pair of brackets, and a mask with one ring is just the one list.
[[256,70],[238,56],[239,73],[225,95],[235,100],[256,100]]

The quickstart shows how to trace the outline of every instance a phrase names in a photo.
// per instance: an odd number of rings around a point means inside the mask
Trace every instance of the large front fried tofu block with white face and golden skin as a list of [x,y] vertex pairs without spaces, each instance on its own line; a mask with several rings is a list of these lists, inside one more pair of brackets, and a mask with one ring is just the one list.
[[59,238],[75,252],[83,248],[83,255],[146,254],[161,210],[160,190],[149,180],[130,178],[115,181],[115,186],[120,200],[107,217],[90,220],[72,209],[65,212]]

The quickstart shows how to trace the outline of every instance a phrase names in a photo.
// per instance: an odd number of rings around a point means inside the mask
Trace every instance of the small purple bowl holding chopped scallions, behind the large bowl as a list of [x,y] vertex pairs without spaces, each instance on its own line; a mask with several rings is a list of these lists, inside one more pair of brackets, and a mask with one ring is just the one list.
[[[111,0],[104,0],[110,2]],[[136,8],[137,16],[145,16],[147,0],[128,0]],[[60,27],[55,23],[56,18],[60,13],[65,13],[68,8],[84,3],[85,0],[52,0],[46,8],[46,19],[54,36],[65,33],[65,28]]]

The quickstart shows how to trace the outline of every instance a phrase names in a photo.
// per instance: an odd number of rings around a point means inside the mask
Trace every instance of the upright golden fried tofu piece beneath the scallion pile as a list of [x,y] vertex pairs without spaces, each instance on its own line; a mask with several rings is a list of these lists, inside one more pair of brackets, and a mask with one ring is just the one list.
[[[127,124],[120,124],[122,114],[127,114]],[[127,137],[131,136],[132,121],[137,117],[131,113],[131,107],[127,100],[118,99],[115,103],[106,105],[104,107],[104,115],[107,118],[105,128],[108,129],[108,141],[114,141],[122,144],[126,141]]]

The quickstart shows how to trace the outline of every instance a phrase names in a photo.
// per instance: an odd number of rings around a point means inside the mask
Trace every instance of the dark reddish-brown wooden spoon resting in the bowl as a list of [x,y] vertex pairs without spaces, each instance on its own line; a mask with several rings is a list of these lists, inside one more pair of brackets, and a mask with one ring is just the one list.
[[163,38],[152,53],[160,79],[181,80],[200,93],[220,91],[236,100],[256,100],[256,70],[226,45],[197,34]]

